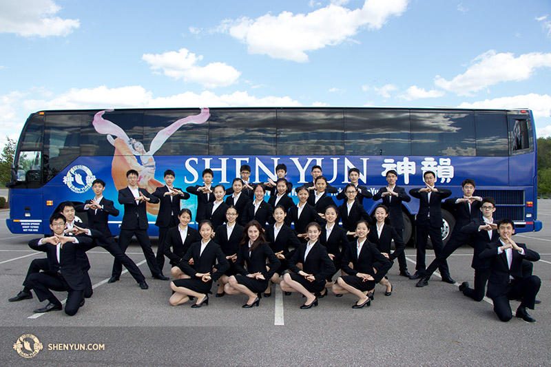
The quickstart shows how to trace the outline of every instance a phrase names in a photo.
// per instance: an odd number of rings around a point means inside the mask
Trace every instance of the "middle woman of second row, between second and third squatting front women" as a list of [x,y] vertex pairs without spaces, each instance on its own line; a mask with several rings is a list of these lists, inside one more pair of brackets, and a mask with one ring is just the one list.
[[[273,209],[275,224],[270,224],[266,227],[266,240],[281,264],[271,277],[271,282],[268,284],[266,291],[264,291],[264,297],[271,296],[271,283],[280,284],[282,281],[281,275],[288,268],[287,259],[290,259],[294,251],[300,246],[300,241],[293,229],[285,224],[286,216],[285,208],[282,205],[278,205]],[[289,246],[293,247],[293,251],[289,252]]]

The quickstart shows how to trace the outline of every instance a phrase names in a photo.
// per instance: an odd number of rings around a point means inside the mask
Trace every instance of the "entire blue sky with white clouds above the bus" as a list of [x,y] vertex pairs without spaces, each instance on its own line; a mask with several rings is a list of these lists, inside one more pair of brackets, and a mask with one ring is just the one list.
[[551,1],[0,0],[0,142],[41,109],[530,108]]

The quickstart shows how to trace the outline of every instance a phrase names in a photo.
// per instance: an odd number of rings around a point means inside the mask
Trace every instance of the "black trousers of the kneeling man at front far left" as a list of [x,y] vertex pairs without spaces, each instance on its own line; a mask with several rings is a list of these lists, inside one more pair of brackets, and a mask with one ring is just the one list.
[[67,302],[65,302],[65,313],[67,315],[74,315],[81,307],[84,291],[72,289],[61,274],[34,273],[30,275],[28,284],[37,294],[40,302],[48,300],[53,304],[61,304],[52,291],[67,291]]

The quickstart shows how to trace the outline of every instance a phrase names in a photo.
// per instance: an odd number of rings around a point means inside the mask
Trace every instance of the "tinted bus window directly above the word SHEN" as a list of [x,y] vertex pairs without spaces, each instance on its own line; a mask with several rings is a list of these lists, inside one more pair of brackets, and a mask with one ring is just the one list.
[[209,127],[209,154],[277,154],[274,109],[216,109]]

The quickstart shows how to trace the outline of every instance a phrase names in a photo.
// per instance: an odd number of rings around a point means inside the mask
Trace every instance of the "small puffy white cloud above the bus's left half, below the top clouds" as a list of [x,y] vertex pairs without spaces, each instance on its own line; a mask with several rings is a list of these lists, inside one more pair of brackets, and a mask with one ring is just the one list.
[[197,64],[202,60],[202,56],[196,56],[185,48],[164,54],[143,54],[142,59],[151,65],[152,70],[163,70],[166,76],[199,83],[207,88],[226,87],[236,83],[241,75],[233,66],[226,63],[216,62],[199,66]]

